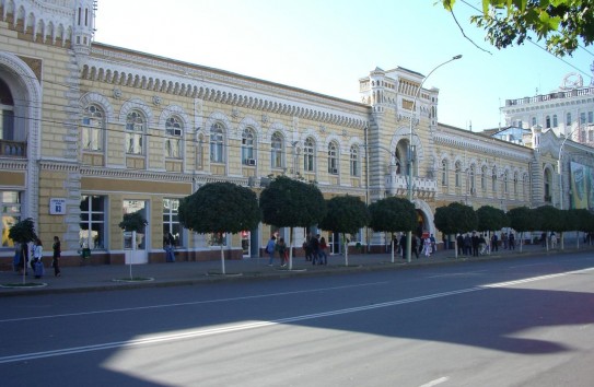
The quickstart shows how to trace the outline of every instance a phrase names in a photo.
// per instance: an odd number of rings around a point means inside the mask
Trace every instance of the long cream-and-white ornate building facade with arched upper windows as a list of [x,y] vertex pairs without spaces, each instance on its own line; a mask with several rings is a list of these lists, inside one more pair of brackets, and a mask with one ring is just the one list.
[[[552,132],[533,131],[533,149],[439,124],[439,90],[419,90],[415,71],[377,68],[359,80],[361,102],[345,101],[96,43],[95,7],[0,0],[0,259],[12,256],[10,225],[25,218],[42,241],[62,239],[66,262],[81,248],[96,263],[163,261],[170,232],[182,257],[216,258],[214,238],[180,227],[179,200],[209,181],[259,192],[281,174],[371,203],[407,197],[410,171],[419,230],[439,235],[434,210],[452,201],[569,203],[563,144],[591,164]],[[137,211],[148,226],[132,241],[118,224]],[[229,256],[259,255],[271,233],[287,236],[266,224],[228,235]],[[369,230],[357,242],[386,243]]]

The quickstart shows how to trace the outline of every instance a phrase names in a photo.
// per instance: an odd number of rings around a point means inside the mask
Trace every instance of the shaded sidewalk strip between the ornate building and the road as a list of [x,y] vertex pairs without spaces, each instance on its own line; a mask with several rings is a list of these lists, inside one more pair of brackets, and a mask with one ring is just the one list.
[[[567,245],[564,250],[550,250],[548,254],[569,254],[580,251],[593,251],[593,246],[580,244],[580,249],[575,245]],[[130,266],[128,265],[102,265],[102,266],[80,266],[62,268],[61,277],[54,277],[54,270],[46,268],[46,275],[42,279],[34,279],[33,275],[26,277],[27,283],[45,284],[35,288],[4,288],[8,284],[22,283],[22,275],[11,271],[0,272],[0,297],[10,295],[37,295],[51,293],[72,293],[72,292],[94,292],[107,290],[156,288],[193,285],[199,283],[209,283],[216,281],[247,281],[261,279],[279,279],[299,275],[330,275],[347,273],[353,271],[371,270],[395,270],[407,267],[417,267],[424,265],[452,265],[469,260],[486,260],[499,258],[512,258],[516,256],[546,255],[547,251],[539,245],[523,246],[523,253],[520,248],[515,250],[499,249],[489,256],[458,256],[454,257],[454,250],[442,250],[433,254],[430,258],[419,255],[419,259],[412,255],[412,260],[408,263],[406,260],[395,256],[394,263],[389,254],[369,254],[369,255],[349,255],[349,265],[346,266],[345,257],[335,255],[328,257],[327,266],[313,266],[305,261],[304,257],[293,257],[293,268],[288,270],[280,267],[278,258],[273,267],[268,266],[268,258],[248,258],[243,260],[225,260],[225,274],[221,271],[221,261],[206,262],[172,262],[172,263],[151,263],[133,265],[131,267],[132,278],[136,281],[126,281],[130,279]],[[47,261],[46,261],[47,265]],[[141,279],[142,281],[139,281]]]

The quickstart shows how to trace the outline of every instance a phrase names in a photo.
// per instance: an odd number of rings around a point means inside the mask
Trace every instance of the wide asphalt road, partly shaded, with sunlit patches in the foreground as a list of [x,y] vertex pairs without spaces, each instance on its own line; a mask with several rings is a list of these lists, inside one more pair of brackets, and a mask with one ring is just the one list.
[[408,268],[4,297],[2,385],[592,386],[590,251]]

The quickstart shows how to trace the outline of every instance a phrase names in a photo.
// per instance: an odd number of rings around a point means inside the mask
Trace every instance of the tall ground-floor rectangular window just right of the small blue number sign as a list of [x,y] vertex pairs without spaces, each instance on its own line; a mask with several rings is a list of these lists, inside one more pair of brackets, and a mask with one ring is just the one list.
[[79,245],[92,249],[104,249],[106,197],[86,196],[81,198],[81,222],[79,225]]

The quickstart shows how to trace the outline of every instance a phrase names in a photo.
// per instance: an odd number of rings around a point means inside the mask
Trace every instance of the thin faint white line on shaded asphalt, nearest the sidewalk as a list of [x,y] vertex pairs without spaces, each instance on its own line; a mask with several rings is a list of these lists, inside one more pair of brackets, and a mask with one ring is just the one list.
[[386,284],[386,283],[388,283],[388,282],[387,281],[369,282],[369,283],[358,283],[358,284],[343,285],[343,286],[334,286],[334,288],[308,289],[308,290],[301,290],[301,291],[293,291],[293,292],[279,292],[279,293],[246,295],[246,296],[243,296],[243,297],[193,301],[193,302],[187,302],[187,303],[175,303],[175,304],[135,306],[135,307],[118,308],[118,309],[104,309],[104,310],[91,310],[91,312],[80,312],[80,313],[67,313],[67,314],[61,314],[61,315],[45,315],[45,316],[34,316],[34,317],[7,318],[7,319],[0,319],[0,324],[1,322],[27,321],[27,320],[42,320],[42,319],[60,318],[60,317],[100,315],[100,314],[118,313],[118,312],[159,309],[159,308],[165,308],[165,307],[177,307],[177,306],[188,306],[188,305],[228,303],[228,302],[234,302],[234,301],[256,300],[256,298],[266,298],[266,297],[278,297],[278,296],[284,296],[284,295],[289,295],[289,294],[303,294],[303,293],[327,292],[327,291],[351,289],[351,288],[375,286],[375,285],[383,285],[383,284]]

